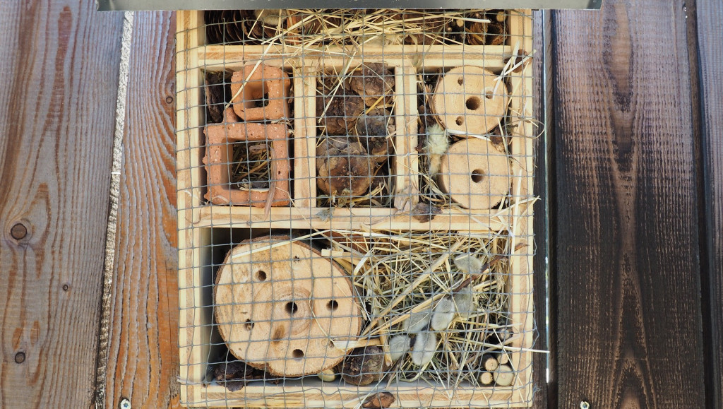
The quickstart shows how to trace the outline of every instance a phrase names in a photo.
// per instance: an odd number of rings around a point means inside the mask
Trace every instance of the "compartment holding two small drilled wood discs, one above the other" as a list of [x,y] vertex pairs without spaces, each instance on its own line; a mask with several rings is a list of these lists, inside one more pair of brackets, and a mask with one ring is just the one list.
[[531,57],[523,39],[510,35],[512,56],[502,59],[475,59],[469,50],[464,61],[427,58],[418,69],[420,202],[437,214],[494,224],[530,204]]

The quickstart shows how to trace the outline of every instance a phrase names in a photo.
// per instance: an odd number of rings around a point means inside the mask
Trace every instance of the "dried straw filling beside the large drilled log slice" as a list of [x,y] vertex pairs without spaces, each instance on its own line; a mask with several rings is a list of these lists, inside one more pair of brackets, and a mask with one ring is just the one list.
[[[437,353],[422,371],[407,354],[401,358],[389,381],[417,378],[442,384],[474,385],[482,366],[482,354],[501,351],[504,345],[491,342],[495,332],[511,332],[507,288],[510,237],[506,232],[490,235],[459,235],[449,232],[374,232],[360,235],[335,230],[332,250],[346,258],[359,294],[368,308],[367,325],[361,337],[393,337],[407,334],[404,322],[412,313],[427,311],[445,296],[455,294],[465,282],[474,290],[476,312],[457,315],[438,337]],[[466,274],[454,258],[472,255],[492,263],[487,274]],[[414,337],[416,334],[409,334]],[[497,340],[497,339],[495,339]],[[510,343],[514,338],[505,340]],[[427,370],[429,369],[429,370]]]

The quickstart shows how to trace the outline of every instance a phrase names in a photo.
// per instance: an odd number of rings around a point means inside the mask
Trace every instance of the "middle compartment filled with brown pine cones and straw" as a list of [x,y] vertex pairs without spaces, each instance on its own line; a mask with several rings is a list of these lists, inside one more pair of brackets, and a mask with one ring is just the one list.
[[[398,74],[403,85],[401,67]],[[322,65],[318,75],[317,205],[391,207],[397,182],[393,169],[402,178],[406,172],[402,164],[395,166],[396,146],[408,146],[405,139],[411,138],[404,126],[403,96],[398,101],[395,93],[395,67],[369,61],[351,69]],[[404,152],[398,157],[403,159]]]

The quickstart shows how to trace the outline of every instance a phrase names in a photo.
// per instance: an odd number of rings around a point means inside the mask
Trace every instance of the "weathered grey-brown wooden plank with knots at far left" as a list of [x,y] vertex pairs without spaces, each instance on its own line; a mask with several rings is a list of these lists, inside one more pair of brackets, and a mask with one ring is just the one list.
[[121,20],[91,0],[2,3],[2,408],[93,403]]

